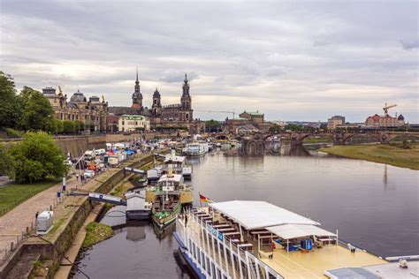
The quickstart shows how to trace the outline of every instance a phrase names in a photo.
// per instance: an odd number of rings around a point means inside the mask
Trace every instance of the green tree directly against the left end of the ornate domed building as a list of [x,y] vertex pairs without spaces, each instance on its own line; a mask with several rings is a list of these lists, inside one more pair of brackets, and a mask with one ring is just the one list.
[[23,87],[20,92],[23,104],[20,127],[25,131],[55,132],[54,110],[41,92]]

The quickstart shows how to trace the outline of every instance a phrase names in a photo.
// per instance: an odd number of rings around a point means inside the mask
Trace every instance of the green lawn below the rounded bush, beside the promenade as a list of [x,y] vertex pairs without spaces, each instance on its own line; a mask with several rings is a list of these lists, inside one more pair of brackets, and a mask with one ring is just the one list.
[[0,216],[5,215],[14,207],[19,206],[25,200],[33,197],[38,192],[42,192],[56,185],[60,180],[49,180],[34,184],[13,183],[0,187]]

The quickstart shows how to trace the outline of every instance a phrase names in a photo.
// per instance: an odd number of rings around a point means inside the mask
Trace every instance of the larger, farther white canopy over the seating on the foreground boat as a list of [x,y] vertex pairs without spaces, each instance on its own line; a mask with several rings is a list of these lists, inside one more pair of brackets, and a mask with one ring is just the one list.
[[240,223],[247,230],[254,230],[282,224],[309,224],[320,225],[319,222],[304,216],[277,207],[266,201],[259,200],[232,200],[209,203],[222,214]]

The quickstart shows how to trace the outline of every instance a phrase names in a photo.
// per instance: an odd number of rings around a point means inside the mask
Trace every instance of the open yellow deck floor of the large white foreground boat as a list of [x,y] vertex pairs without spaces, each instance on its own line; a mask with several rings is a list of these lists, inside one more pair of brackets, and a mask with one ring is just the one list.
[[360,268],[387,263],[386,260],[361,250],[351,253],[340,245],[313,248],[309,253],[278,249],[273,252],[272,259],[268,258],[269,254],[261,252],[261,260],[285,278],[327,278],[324,275],[324,270],[327,269]]

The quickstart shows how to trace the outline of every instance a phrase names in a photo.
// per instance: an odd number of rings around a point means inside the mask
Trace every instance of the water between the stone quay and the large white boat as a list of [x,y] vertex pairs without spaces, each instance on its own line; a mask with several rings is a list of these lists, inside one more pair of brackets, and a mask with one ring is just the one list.
[[[90,278],[190,278],[175,252],[174,226],[156,236],[150,222],[129,222],[113,207],[103,217],[115,236],[84,253],[79,268]],[[86,278],[79,272],[76,278]]]

